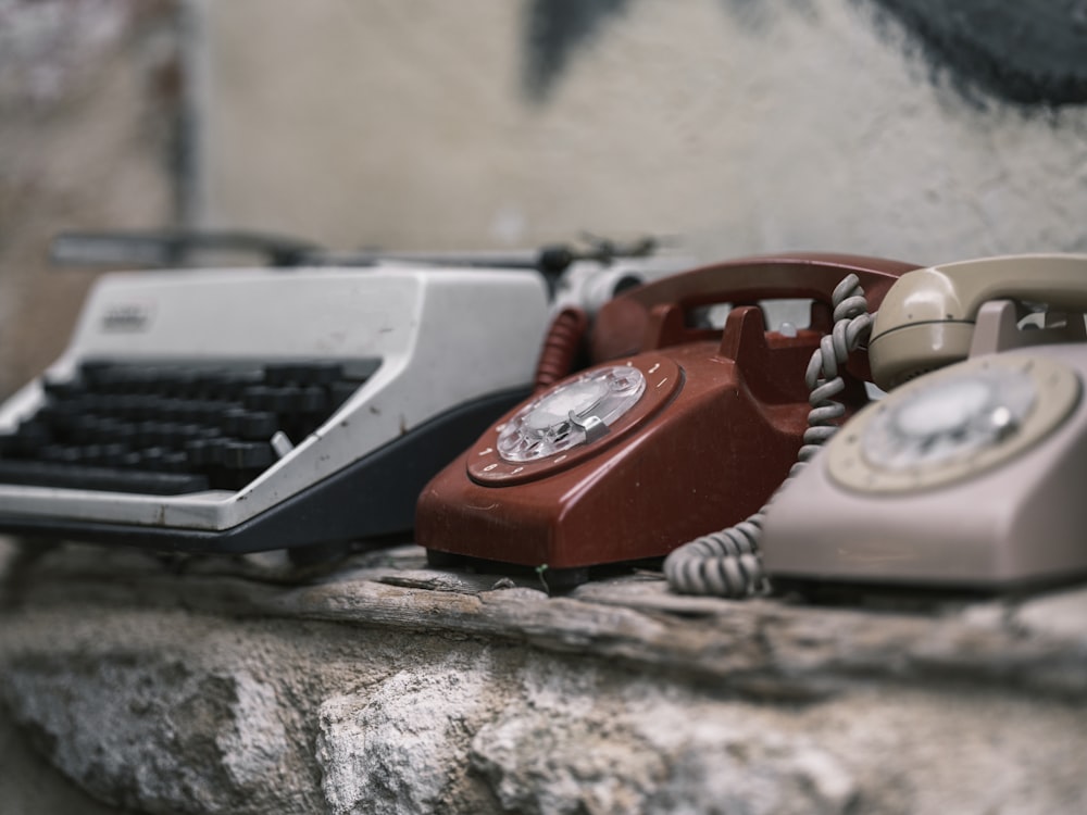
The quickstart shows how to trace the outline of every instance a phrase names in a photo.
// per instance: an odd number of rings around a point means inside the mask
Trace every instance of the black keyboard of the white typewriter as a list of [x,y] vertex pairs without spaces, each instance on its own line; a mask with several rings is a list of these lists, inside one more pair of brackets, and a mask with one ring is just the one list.
[[45,378],[38,411],[0,435],[0,484],[237,490],[324,424],[378,365],[87,361],[70,379]]

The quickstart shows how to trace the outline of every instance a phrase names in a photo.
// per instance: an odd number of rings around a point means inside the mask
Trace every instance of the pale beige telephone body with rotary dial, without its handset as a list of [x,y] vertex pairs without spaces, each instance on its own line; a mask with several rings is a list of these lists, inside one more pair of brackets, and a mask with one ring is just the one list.
[[[761,542],[772,581],[1007,594],[1087,576],[1083,349],[1039,346],[974,358],[902,386],[859,414],[775,498]],[[961,394],[1003,381],[994,378],[998,373],[1019,392],[1033,393],[1033,406],[1012,430],[935,464],[896,469],[878,459],[885,426],[895,430],[922,409],[940,408],[935,399],[923,401],[933,393],[946,399],[942,417],[958,416],[952,408],[972,404]],[[991,399],[1012,404],[1011,396]],[[966,408],[960,413],[972,416]],[[947,438],[958,438],[959,425],[946,424]]]

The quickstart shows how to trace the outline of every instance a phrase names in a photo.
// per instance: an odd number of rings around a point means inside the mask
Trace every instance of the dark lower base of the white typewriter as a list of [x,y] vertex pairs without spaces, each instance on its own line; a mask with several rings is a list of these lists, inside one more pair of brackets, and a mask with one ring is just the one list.
[[0,532],[135,547],[158,552],[243,554],[388,537],[414,525],[426,482],[460,455],[527,389],[459,405],[273,509],[229,529],[97,523],[0,514]]

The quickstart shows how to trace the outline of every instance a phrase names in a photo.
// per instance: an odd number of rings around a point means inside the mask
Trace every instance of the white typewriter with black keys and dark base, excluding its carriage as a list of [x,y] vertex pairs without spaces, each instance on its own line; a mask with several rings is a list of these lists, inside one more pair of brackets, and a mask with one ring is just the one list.
[[401,535],[528,393],[547,318],[526,268],[105,275],[0,405],[0,532],[220,553]]

